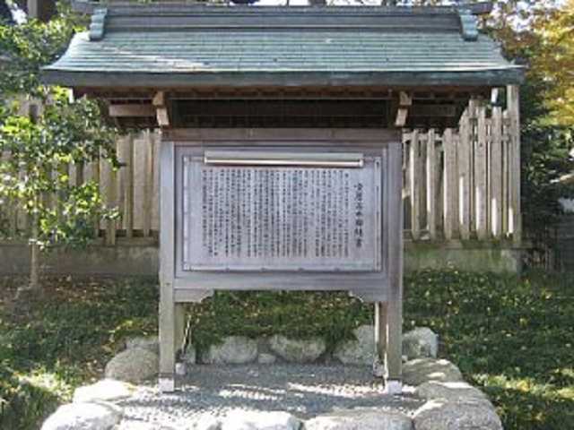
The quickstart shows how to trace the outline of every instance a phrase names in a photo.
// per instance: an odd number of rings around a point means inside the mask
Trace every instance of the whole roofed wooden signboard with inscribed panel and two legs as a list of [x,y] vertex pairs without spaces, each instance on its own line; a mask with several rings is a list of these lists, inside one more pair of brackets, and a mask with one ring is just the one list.
[[[85,6],[85,4],[84,4]],[[45,79],[161,128],[160,381],[182,304],[217,289],[346,289],[375,303],[401,390],[402,128],[456,126],[521,69],[456,7],[110,3]]]

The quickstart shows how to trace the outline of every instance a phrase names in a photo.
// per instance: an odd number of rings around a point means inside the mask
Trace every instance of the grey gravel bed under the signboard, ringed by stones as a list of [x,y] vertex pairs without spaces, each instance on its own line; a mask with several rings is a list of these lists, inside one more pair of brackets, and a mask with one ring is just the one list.
[[[413,416],[424,403],[405,392],[383,393],[369,367],[317,365],[190,366],[175,393],[141,385],[120,400],[126,425],[147,422],[180,429],[234,410],[286,411],[309,419],[337,409],[378,408]],[[405,390],[406,391],[406,390]]]

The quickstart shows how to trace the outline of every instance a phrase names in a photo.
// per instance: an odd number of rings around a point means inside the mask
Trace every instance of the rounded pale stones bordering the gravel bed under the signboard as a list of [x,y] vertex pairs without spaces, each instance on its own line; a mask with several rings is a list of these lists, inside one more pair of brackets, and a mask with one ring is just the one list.
[[[372,365],[374,340],[372,326],[361,326],[356,340],[337,345],[333,356],[326,355],[321,339],[291,340],[283,336],[250,340],[241,336],[225,338],[201,354],[189,348],[182,357],[185,366],[196,361],[209,364],[271,365],[275,362],[314,363],[317,360],[336,360],[346,365]],[[407,390],[426,402],[413,416],[387,409],[337,409],[331,413],[302,421],[287,412],[254,412],[236,410],[221,418],[205,417],[189,423],[197,430],[458,430],[481,428],[502,430],[500,417],[488,397],[479,389],[465,383],[457,366],[445,359],[437,359],[438,336],[428,328],[417,328],[404,334],[403,367]],[[143,382],[157,375],[157,338],[127,340],[126,350],[112,358],[106,367],[107,378],[133,383]],[[411,358],[406,360],[407,358]],[[185,371],[184,363],[179,371]],[[114,379],[106,379],[74,392],[74,402],[64,405],[48,417],[41,430],[173,430],[170,426],[132,426],[123,421],[123,411],[114,401],[131,396],[135,387]]]

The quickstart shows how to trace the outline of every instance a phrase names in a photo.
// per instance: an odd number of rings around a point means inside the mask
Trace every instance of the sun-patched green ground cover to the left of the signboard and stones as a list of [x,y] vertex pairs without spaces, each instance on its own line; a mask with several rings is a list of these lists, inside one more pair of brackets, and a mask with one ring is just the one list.
[[[5,285],[5,282],[8,285]],[[126,336],[157,329],[150,280],[46,280],[29,314],[0,306],[0,428],[35,430],[74,387],[99,378]],[[0,295],[18,280],[4,280]]]

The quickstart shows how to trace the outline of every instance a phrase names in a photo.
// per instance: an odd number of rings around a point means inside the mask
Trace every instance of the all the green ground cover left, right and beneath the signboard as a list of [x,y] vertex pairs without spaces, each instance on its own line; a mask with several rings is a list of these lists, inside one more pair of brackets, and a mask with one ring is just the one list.
[[[22,280],[0,280],[0,428],[31,430],[98,379],[127,336],[156,331],[154,280],[45,280],[47,295],[18,314]],[[198,348],[229,334],[324,336],[372,320],[344,293],[222,293],[190,313]],[[405,281],[404,326],[437,331],[440,355],[483,387],[506,429],[574,428],[574,276],[422,271]],[[4,400],[3,400],[4,399]]]

